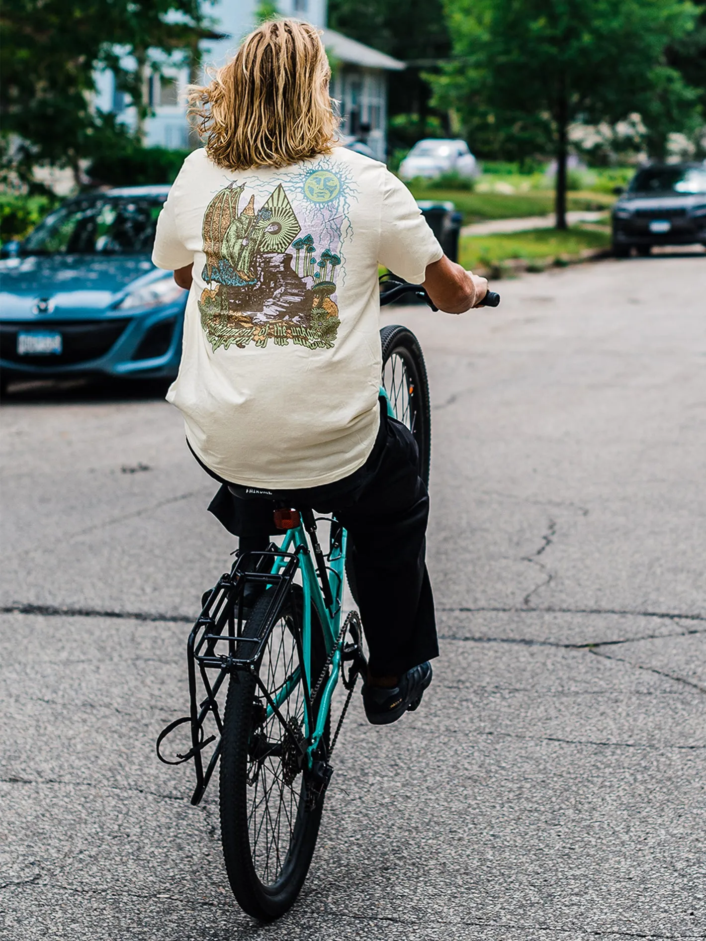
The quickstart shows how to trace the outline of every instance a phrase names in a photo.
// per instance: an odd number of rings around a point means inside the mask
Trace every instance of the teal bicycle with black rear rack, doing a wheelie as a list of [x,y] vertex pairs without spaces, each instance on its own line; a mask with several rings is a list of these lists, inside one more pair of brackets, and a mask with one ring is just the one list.
[[[431,303],[423,289],[398,282],[383,299],[410,292]],[[415,436],[419,473],[428,482],[431,418],[421,348],[406,327],[384,327],[381,343],[381,394],[389,414]],[[187,644],[190,712],[157,740],[165,763],[194,761],[192,804],[201,800],[220,759],[228,880],[243,910],[262,920],[283,915],[304,884],[331,757],[357,678],[367,668],[358,615],[342,617],[345,530],[336,518],[314,518],[306,506],[278,508],[275,522],[282,544],[237,552],[230,572],[204,595]],[[347,696],[332,734],[338,683]],[[165,740],[180,726],[191,733],[189,747],[167,758]]]

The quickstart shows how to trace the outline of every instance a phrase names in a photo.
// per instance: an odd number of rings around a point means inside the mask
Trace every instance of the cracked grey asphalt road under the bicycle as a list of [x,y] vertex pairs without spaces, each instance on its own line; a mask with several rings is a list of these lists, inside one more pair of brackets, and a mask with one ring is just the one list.
[[232,540],[157,396],[27,388],[4,425],[0,935],[8,941],[702,938],[706,263],[398,309],[433,399],[442,656],[356,696],[288,917],[236,907],[217,785],[154,757]]

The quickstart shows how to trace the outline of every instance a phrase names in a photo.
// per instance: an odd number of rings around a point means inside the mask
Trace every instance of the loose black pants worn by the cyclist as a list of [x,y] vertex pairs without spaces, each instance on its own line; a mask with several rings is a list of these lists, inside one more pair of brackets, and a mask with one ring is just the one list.
[[222,481],[209,506],[230,533],[241,537],[241,548],[248,550],[265,548],[268,536],[276,533],[275,500],[335,514],[348,531],[349,565],[368,641],[370,672],[377,677],[397,676],[439,655],[424,561],[429,495],[416,467],[412,433],[389,419],[381,407],[372,452],[350,476],[323,486],[275,490],[273,499],[243,499]]

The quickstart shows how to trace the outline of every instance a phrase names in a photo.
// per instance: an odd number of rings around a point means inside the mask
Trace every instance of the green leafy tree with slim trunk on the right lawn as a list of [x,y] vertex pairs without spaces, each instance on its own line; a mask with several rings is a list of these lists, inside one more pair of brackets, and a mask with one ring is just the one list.
[[693,28],[688,0],[446,0],[455,60],[432,78],[470,132],[491,128],[517,156],[557,159],[566,228],[568,128],[639,112],[657,148],[694,115],[698,92],[667,64]]

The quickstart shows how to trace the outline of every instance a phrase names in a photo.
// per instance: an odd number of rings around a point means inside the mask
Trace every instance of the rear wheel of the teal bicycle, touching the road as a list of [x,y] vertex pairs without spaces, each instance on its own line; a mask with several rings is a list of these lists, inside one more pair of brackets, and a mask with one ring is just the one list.
[[[243,635],[265,627],[272,591],[253,607]],[[303,594],[292,586],[265,647],[259,679],[278,704],[271,710],[254,675],[230,676],[221,740],[221,840],[230,886],[238,904],[265,921],[283,915],[306,879],[322,819],[322,800],[306,805],[298,760],[304,738],[305,698],[299,645]],[[321,622],[311,611],[311,677],[325,662]],[[244,645],[243,645],[244,646]],[[289,686],[285,698],[283,690]],[[282,698],[278,702],[278,697]],[[323,747],[328,749],[328,726]]]

